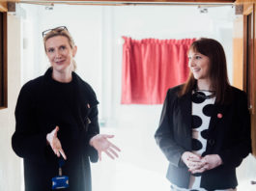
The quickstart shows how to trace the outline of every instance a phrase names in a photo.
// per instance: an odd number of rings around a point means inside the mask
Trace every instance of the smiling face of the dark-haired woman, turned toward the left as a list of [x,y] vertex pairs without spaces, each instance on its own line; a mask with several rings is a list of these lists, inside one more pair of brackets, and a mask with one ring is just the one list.
[[209,57],[190,50],[188,53],[188,67],[195,79],[209,79],[210,59]]

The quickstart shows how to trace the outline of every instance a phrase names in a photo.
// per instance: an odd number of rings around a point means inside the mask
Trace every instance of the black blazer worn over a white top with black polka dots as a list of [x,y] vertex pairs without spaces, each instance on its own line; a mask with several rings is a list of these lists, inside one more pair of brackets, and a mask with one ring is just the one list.
[[[191,151],[191,93],[178,96],[181,86],[169,89],[163,104],[156,144],[168,159],[166,177],[179,187],[188,188],[190,173],[181,156]],[[235,188],[236,167],[251,151],[250,116],[247,96],[231,87],[229,104],[214,104],[204,155],[218,154],[223,164],[202,174],[201,187],[207,190]],[[217,118],[222,114],[222,118]]]

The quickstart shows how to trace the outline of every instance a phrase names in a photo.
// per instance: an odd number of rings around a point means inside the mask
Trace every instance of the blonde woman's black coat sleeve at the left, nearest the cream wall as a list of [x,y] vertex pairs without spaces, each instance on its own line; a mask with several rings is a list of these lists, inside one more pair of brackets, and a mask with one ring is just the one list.
[[40,162],[46,146],[46,134],[38,131],[35,118],[35,95],[31,83],[21,89],[15,107],[14,152],[23,158]]

